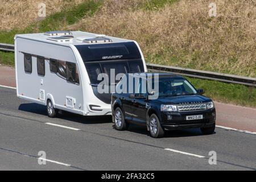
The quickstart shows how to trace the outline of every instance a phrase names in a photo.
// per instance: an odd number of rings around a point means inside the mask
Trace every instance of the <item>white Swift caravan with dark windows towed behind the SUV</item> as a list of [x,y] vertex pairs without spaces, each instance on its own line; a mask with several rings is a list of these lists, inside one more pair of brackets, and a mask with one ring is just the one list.
[[[100,94],[100,73],[146,72],[137,42],[82,31],[15,36],[17,96],[81,115],[110,115],[111,93]],[[112,83],[114,84],[114,83]]]

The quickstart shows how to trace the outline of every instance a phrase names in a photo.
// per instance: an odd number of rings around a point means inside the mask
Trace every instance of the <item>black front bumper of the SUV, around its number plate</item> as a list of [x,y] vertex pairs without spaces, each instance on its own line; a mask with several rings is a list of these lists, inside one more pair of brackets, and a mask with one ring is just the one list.
[[[172,119],[168,119],[171,115]],[[203,119],[186,120],[187,115],[203,115]],[[208,109],[204,111],[181,111],[181,112],[162,112],[161,125],[166,130],[188,129],[199,127],[212,127],[215,125],[216,111]]]

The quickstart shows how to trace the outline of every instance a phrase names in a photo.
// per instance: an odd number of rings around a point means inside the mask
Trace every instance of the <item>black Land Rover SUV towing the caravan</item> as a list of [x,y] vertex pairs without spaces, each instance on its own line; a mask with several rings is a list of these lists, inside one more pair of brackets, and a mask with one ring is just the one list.
[[[116,89],[123,87],[122,90],[127,92],[117,93],[116,90],[112,94],[115,129],[125,130],[130,123],[136,123],[144,125],[154,138],[163,137],[165,130],[174,129],[200,128],[203,134],[214,132],[216,112],[213,101],[202,96],[204,90],[196,90],[184,77],[169,73],[125,76],[126,79],[122,77]],[[133,84],[129,85],[131,79]],[[146,81],[144,85],[143,80]],[[124,81],[127,85],[123,84]],[[152,89],[154,84],[158,84],[158,90]],[[129,86],[133,89],[129,90]],[[145,87],[146,93],[142,92]],[[156,94],[158,98],[149,99]]]

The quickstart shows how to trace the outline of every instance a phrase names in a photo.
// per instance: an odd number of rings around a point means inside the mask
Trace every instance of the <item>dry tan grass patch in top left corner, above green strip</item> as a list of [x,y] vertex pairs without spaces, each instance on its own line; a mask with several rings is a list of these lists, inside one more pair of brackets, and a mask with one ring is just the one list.
[[77,5],[82,0],[1,0],[0,30],[24,28],[38,19],[39,3],[46,4],[46,15],[56,13],[65,7]]

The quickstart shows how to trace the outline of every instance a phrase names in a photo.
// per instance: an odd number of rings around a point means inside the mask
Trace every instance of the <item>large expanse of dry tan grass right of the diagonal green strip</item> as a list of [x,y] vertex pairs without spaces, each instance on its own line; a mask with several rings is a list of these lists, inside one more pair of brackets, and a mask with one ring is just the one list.
[[208,16],[211,0],[181,0],[156,11],[138,9],[143,2],[106,1],[69,28],[137,40],[152,63],[256,76],[255,1],[215,0],[216,18]]

